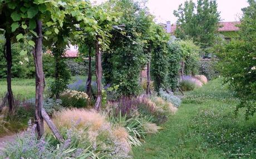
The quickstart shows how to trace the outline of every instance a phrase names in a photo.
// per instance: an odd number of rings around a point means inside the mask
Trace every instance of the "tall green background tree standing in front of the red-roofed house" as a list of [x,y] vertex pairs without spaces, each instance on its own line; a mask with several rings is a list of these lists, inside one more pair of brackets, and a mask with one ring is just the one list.
[[181,38],[192,38],[202,48],[213,46],[218,30],[220,13],[215,0],[185,1],[174,15],[178,18],[175,34]]

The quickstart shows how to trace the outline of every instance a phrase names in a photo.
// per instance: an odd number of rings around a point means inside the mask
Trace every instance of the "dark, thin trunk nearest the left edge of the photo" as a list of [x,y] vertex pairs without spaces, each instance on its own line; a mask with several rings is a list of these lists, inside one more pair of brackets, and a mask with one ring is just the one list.
[[7,61],[7,101],[9,112],[13,112],[13,93],[12,93],[12,48],[11,48],[11,35],[5,34],[6,37],[6,61]]

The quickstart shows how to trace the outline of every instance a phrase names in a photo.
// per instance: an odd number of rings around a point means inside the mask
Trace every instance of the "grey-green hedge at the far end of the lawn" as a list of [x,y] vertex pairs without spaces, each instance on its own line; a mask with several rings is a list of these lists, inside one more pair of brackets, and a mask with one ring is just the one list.
[[217,59],[201,59],[199,61],[199,74],[205,75],[208,80],[218,78],[219,72],[216,68]]

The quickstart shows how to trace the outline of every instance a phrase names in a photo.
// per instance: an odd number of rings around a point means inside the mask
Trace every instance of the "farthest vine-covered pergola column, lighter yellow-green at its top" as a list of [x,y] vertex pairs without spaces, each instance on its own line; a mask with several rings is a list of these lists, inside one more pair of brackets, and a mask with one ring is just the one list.
[[200,48],[192,40],[181,40],[179,44],[183,52],[184,73],[186,75],[196,75],[199,67]]

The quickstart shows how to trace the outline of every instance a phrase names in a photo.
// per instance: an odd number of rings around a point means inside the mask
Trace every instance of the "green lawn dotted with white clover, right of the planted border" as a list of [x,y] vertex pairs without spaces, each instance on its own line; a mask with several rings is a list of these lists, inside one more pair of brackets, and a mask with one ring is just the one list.
[[132,149],[134,158],[256,158],[255,116],[234,115],[238,100],[219,79],[185,95],[164,130]]

